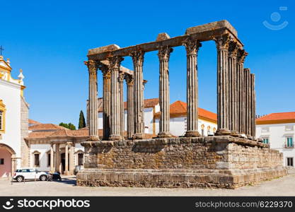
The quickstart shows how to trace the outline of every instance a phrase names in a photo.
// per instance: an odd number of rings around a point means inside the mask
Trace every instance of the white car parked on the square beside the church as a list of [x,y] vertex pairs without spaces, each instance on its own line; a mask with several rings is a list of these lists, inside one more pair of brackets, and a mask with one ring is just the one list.
[[35,168],[30,167],[18,169],[13,175],[13,179],[16,179],[17,182],[22,182],[27,179],[40,179],[41,181],[45,181],[47,178],[47,172],[39,172]]

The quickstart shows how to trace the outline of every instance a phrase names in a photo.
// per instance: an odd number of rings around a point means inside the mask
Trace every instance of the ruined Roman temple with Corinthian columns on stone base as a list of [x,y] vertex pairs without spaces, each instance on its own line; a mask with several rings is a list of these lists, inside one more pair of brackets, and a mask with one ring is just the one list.
[[[214,40],[217,50],[217,122],[214,136],[200,136],[198,123],[197,53]],[[173,47],[187,57],[187,131],[170,134],[168,63]],[[144,138],[144,53],[159,60],[159,133]],[[89,138],[80,186],[221,187],[287,175],[282,153],[255,138],[255,75],[244,67],[248,55],[226,20],[187,28],[185,35],[158,35],[156,41],[130,47],[117,45],[88,51]],[[134,71],[121,66],[132,57]],[[148,62],[148,61],[146,61]],[[98,137],[97,72],[103,72],[103,139]],[[183,71],[185,73],[185,71]],[[127,136],[124,136],[123,83],[127,83]]]

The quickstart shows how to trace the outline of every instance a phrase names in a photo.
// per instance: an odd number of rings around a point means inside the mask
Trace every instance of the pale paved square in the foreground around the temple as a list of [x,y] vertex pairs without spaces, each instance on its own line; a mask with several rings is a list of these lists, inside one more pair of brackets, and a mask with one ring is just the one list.
[[77,187],[75,177],[62,182],[9,182],[0,179],[0,196],[295,196],[295,173],[239,189],[161,189]]

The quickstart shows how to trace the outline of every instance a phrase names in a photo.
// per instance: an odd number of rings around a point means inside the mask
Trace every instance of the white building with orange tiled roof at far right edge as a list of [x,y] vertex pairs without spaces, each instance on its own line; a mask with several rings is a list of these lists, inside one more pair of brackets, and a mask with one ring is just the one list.
[[284,165],[294,167],[295,112],[277,112],[256,119],[256,136],[284,154]]

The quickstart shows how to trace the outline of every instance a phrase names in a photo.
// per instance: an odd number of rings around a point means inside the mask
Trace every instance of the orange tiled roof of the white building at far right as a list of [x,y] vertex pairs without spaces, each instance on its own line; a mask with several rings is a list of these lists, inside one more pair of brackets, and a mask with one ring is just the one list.
[[257,124],[279,124],[295,122],[295,112],[276,112],[256,119]]

